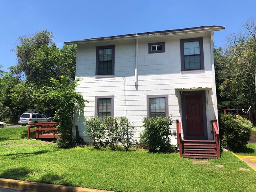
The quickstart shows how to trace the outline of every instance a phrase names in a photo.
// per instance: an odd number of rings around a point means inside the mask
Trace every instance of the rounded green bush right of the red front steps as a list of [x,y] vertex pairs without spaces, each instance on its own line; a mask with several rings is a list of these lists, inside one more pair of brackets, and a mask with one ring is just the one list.
[[220,117],[221,146],[238,151],[250,139],[252,123],[239,115],[221,114]]

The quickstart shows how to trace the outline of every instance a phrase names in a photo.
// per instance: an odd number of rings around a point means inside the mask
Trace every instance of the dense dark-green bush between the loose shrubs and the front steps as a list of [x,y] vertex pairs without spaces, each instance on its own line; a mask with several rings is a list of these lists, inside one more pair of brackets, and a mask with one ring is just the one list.
[[171,144],[170,125],[173,123],[171,116],[163,117],[144,117],[143,126],[145,129],[142,132],[144,144],[148,146],[149,152],[167,153],[174,151],[174,145]]

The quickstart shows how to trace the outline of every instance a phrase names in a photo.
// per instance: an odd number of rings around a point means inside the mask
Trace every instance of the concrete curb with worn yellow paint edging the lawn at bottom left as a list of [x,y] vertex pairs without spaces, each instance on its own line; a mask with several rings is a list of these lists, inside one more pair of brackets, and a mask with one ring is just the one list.
[[[22,190],[22,192],[110,192],[106,190],[65,186],[65,185],[53,185],[53,184],[47,184],[47,183],[36,183],[36,182],[28,182],[28,181],[18,181],[13,179],[4,179],[4,178],[0,178],[0,187],[6,188],[6,189]],[[6,189],[3,189],[3,192],[9,192]]]

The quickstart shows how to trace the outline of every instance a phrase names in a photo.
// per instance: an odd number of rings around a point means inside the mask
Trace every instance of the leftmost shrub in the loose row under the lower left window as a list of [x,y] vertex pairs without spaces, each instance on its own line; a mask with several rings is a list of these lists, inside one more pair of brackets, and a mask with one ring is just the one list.
[[103,145],[103,139],[105,138],[104,124],[98,117],[88,118],[86,121],[87,133],[93,140],[93,146],[99,148]]

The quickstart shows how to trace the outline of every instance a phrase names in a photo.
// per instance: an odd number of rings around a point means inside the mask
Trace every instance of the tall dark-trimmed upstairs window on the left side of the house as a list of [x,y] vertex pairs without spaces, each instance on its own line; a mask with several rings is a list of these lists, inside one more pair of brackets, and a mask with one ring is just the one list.
[[115,45],[96,47],[96,76],[114,75]]

